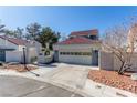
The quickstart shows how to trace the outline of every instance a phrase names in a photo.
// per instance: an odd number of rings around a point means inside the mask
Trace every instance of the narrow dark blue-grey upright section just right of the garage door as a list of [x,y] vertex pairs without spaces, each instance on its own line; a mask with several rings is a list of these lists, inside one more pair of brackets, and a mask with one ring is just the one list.
[[92,65],[98,65],[98,50],[92,51]]

